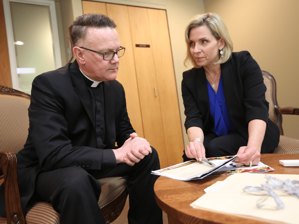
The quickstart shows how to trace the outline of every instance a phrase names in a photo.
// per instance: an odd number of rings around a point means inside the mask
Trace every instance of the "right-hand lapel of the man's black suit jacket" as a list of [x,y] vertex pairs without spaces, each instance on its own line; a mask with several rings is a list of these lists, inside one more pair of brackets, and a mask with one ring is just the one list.
[[103,82],[104,103],[105,103],[105,130],[107,148],[115,148],[115,99],[113,90],[108,82]]

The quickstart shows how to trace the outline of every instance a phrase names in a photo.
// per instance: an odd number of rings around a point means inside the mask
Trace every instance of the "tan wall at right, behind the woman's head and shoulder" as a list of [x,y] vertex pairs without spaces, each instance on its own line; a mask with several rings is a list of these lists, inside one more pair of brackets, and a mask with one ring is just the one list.
[[[299,107],[299,1],[204,0],[225,22],[234,51],[248,50],[277,83],[280,107]],[[284,135],[299,139],[299,116],[283,115]]]

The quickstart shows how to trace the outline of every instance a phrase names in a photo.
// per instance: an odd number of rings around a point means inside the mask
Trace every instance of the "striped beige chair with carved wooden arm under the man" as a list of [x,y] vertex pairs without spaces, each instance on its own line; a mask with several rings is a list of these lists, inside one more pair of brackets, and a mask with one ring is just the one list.
[[[48,202],[36,202],[29,206],[26,219],[23,216],[16,177],[16,156],[25,144],[28,128],[30,95],[0,85],[0,184],[5,183],[6,223],[60,223],[59,214]],[[3,175],[2,175],[3,171]],[[106,223],[113,222],[123,210],[127,198],[127,180],[123,177],[99,179],[102,191],[99,206]]]

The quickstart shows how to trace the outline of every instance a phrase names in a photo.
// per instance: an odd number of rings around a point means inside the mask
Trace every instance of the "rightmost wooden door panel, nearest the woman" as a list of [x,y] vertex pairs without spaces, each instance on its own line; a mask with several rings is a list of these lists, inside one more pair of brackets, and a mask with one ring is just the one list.
[[184,142],[166,10],[148,9],[148,16],[168,165],[171,166],[183,162]]

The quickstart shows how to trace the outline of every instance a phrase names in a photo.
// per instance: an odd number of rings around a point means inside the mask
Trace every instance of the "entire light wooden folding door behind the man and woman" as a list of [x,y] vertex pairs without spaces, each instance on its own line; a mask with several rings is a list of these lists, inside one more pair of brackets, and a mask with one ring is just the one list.
[[117,80],[126,93],[136,133],[158,151],[161,168],[183,162],[179,103],[166,10],[82,1],[83,13],[101,13],[117,24],[126,47]]

